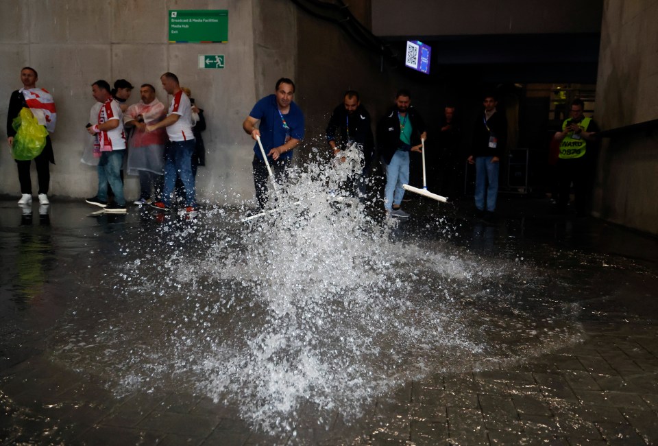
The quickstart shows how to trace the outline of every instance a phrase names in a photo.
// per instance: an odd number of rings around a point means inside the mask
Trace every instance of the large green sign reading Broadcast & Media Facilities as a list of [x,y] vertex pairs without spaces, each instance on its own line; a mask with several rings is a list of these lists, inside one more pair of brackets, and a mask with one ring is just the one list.
[[169,42],[228,42],[228,10],[170,10]]

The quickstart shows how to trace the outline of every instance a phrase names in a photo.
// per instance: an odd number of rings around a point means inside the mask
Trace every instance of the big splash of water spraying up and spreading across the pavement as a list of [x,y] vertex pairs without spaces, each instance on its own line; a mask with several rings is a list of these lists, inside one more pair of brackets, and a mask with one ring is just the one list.
[[121,246],[86,284],[106,299],[80,297],[56,359],[117,395],[186,389],[289,436],[356,420],[410,379],[580,340],[578,307],[552,297],[540,267],[408,235],[328,193],[358,165],[293,169],[271,191],[276,211],[249,222],[217,208],[145,225],[133,238],[147,242]]

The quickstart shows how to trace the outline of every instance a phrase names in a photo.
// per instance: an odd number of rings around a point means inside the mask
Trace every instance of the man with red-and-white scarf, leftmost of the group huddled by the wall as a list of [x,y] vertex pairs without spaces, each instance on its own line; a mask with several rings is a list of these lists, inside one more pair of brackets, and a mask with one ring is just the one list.
[[[94,155],[98,161],[98,192],[87,198],[89,204],[102,207],[106,212],[125,213],[121,165],[125,155],[125,134],[123,133],[123,113],[119,104],[110,94],[110,84],[97,80],[91,85],[91,93],[102,104],[98,112],[97,124],[89,126],[87,132],[95,135]],[[108,183],[114,192],[114,202],[108,204]]]

